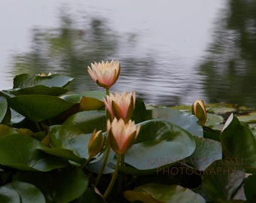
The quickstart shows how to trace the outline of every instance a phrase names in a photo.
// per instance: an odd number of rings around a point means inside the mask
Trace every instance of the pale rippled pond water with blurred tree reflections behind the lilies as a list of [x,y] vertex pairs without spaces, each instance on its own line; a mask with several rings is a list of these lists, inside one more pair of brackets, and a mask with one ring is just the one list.
[[256,2],[244,0],[0,2],[0,85],[20,73],[74,77],[100,89],[91,62],[119,59],[111,91],[155,105],[194,99],[256,107]]

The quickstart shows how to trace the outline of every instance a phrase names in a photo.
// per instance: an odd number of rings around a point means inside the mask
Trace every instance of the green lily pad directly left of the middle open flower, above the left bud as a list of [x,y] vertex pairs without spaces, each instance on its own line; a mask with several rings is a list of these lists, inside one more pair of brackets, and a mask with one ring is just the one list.
[[105,111],[81,111],[73,114],[63,124],[74,126],[84,133],[92,133],[94,129],[105,131]]

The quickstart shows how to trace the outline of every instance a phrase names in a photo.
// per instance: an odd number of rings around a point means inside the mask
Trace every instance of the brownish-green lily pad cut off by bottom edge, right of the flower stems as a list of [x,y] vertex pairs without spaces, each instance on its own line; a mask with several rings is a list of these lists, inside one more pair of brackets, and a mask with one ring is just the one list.
[[164,185],[157,183],[148,183],[142,186],[136,187],[134,190],[127,190],[123,192],[123,195],[130,202],[142,201],[142,202],[154,202],[154,203],[205,203],[205,199],[191,191],[177,185]]

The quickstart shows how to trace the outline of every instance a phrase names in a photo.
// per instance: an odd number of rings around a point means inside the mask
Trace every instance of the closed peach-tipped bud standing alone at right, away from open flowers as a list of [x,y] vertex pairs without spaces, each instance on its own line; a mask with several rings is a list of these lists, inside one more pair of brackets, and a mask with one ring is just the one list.
[[203,100],[196,100],[192,105],[192,114],[194,114],[201,126],[204,126],[207,120],[206,106]]

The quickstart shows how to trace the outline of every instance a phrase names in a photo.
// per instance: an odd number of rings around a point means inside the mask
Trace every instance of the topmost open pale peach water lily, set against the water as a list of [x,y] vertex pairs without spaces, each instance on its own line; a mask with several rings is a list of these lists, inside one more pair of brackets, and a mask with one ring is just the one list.
[[91,67],[87,67],[90,77],[99,85],[109,89],[116,81],[120,74],[119,61],[111,62],[94,62]]

